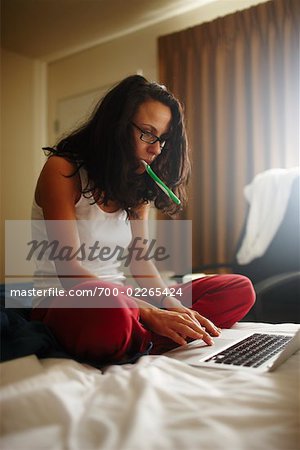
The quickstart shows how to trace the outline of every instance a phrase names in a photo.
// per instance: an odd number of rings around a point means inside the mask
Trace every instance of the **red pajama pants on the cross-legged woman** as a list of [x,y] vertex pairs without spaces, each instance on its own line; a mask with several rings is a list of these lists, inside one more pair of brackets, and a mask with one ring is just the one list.
[[[95,287],[120,288],[113,283],[91,280],[76,286],[76,289]],[[220,328],[230,328],[241,320],[255,301],[251,282],[242,275],[214,275],[199,278],[181,287],[184,304],[191,299],[193,310],[210,319]],[[63,298],[64,307],[58,307],[61,298],[51,300],[47,308],[35,308],[32,320],[44,322],[56,336],[64,349],[74,357],[98,362],[119,362],[137,353],[144,352],[153,342],[152,354],[163,353],[177,346],[169,338],[147,330],[140,322],[140,311],[132,299],[125,294],[113,296],[114,307],[83,308],[82,297]],[[94,300],[95,301],[95,300]],[[101,298],[97,298],[99,305]],[[66,306],[66,307],[65,307]]]

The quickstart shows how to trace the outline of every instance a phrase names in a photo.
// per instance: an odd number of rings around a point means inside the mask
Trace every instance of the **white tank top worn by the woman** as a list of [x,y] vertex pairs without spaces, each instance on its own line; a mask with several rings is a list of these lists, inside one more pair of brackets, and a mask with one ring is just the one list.
[[[81,186],[85,187],[86,172],[80,169],[79,173]],[[75,214],[80,246],[81,248],[83,246],[85,251],[80,264],[103,281],[123,284],[125,276],[120,268],[120,249],[126,250],[132,238],[130,221],[127,219],[126,211],[105,212],[99,205],[92,203],[92,198],[86,198],[84,195],[81,195],[75,205]],[[37,242],[45,241],[49,243],[43,221],[43,210],[36,203],[35,199],[33,200],[31,218],[33,239]],[[91,247],[97,250],[91,253]],[[110,257],[108,254],[105,257],[95,258],[97,254],[99,255],[100,249],[104,247],[111,249],[112,256]],[[62,289],[62,285],[56,275],[53,258],[49,258],[51,250],[53,251],[53,247],[49,247],[49,249],[44,251],[43,257],[39,256],[38,251],[33,253],[36,265],[34,272],[34,287],[36,289],[47,290],[49,287]],[[74,250],[76,251],[77,249]],[[81,253],[78,253],[79,255],[83,255],[82,250]],[[88,257],[89,255],[91,257]],[[47,295],[36,297],[33,305],[36,306],[46,297]]]

